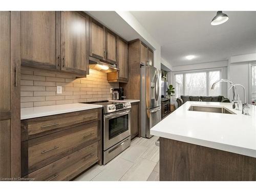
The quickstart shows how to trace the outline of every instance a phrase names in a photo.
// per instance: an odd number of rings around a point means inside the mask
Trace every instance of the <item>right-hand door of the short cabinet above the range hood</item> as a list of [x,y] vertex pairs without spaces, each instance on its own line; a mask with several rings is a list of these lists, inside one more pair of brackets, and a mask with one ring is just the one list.
[[117,63],[117,35],[112,31],[105,30],[105,60]]

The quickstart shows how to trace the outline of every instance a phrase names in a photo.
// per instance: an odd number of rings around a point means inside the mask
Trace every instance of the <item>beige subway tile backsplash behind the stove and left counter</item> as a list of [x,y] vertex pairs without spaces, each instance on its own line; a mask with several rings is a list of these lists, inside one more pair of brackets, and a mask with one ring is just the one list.
[[[75,77],[72,73],[22,66],[21,108],[110,100],[110,88],[119,87],[118,82],[106,80],[106,73],[95,70],[90,70],[86,78]],[[62,86],[62,94],[56,93],[56,86]]]

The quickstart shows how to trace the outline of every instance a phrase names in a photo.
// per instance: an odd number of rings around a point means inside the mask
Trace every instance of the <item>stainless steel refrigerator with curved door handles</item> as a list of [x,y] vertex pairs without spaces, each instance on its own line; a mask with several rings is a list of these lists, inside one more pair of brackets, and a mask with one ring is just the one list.
[[161,71],[141,66],[141,137],[150,138],[150,129],[161,121]]

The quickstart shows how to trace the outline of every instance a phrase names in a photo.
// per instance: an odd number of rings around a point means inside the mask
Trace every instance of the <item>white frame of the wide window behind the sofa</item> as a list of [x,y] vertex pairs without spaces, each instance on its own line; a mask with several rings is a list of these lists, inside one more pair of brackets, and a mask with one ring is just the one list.
[[[256,65],[256,63],[255,63]],[[175,75],[183,75],[183,95],[186,95],[186,87],[185,87],[185,82],[186,82],[186,75],[188,73],[206,73],[206,93],[207,96],[209,96],[209,72],[214,72],[214,71],[219,71],[220,72],[220,78],[222,78],[222,68],[211,68],[211,69],[202,69],[202,70],[188,70],[188,71],[178,71],[174,72],[174,84],[176,84],[176,78]],[[220,95],[222,95],[222,84],[220,83]],[[177,97],[175,96],[175,99]]]

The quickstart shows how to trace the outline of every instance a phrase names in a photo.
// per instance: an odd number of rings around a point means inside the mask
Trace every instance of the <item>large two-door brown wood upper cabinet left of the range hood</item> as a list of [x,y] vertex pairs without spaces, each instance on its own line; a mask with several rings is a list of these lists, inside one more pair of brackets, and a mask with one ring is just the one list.
[[89,73],[89,19],[75,11],[22,11],[22,65]]

